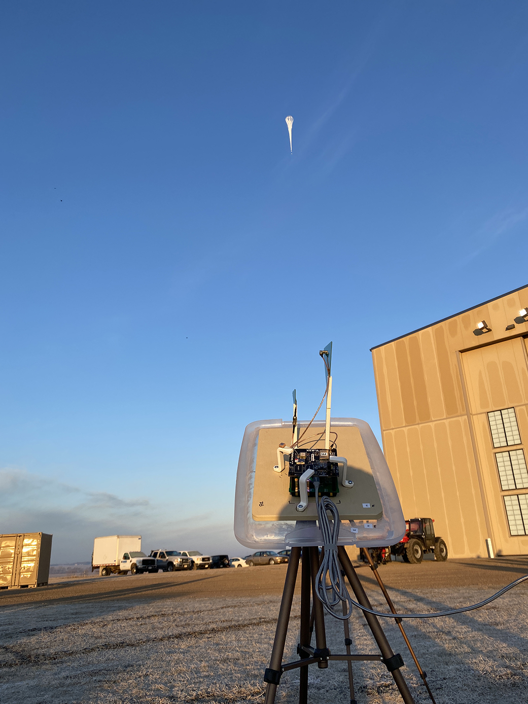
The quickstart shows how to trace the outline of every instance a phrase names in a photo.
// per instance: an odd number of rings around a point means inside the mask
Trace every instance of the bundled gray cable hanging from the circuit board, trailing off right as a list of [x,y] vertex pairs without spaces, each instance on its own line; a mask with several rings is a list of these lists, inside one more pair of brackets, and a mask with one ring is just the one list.
[[[339,527],[341,526],[341,520],[339,518],[337,506],[328,498],[328,496],[323,496],[321,500],[319,500],[318,477],[314,478],[313,485],[315,486],[315,503],[318,509],[319,529],[325,544],[325,555],[323,555],[321,566],[315,580],[315,589],[322,605],[335,618],[339,618],[343,621],[349,619],[352,615],[352,609],[354,606],[374,616],[381,616],[383,618],[438,618],[441,616],[453,616],[455,614],[473,611],[474,609],[479,609],[482,606],[486,606],[486,604],[491,603],[491,601],[494,601],[499,596],[502,596],[507,591],[510,591],[510,589],[513,589],[513,587],[517,586],[517,584],[522,584],[522,582],[526,582],[528,580],[528,574],[525,574],[524,577],[515,579],[515,582],[510,582],[510,584],[504,586],[503,589],[500,589],[492,596],[484,599],[484,601],[479,601],[477,604],[463,606],[459,609],[436,611],[429,614],[387,614],[383,611],[377,611],[375,609],[369,609],[366,606],[362,606],[351,598],[348,593],[348,589],[346,589],[344,578],[341,575],[341,565],[339,564],[339,558],[337,556],[337,539],[339,538]],[[327,511],[332,513],[332,524],[330,524]],[[327,575],[330,586],[326,585]],[[344,601],[348,606],[348,610],[345,615],[339,615],[339,613],[334,611],[334,607],[337,606],[340,601]]]

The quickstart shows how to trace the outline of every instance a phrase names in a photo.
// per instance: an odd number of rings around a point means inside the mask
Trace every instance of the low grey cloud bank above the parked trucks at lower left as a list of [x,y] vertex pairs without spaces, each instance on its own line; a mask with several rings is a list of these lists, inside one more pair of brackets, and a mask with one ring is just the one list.
[[146,553],[155,548],[230,556],[251,552],[235,540],[232,517],[226,512],[189,515],[184,507],[183,517],[174,504],[122,499],[16,469],[0,470],[0,494],[0,533],[53,534],[55,564],[89,561],[94,538],[115,534],[141,535]]

